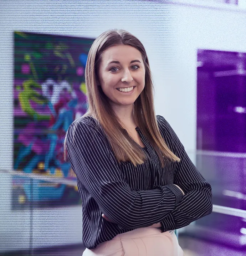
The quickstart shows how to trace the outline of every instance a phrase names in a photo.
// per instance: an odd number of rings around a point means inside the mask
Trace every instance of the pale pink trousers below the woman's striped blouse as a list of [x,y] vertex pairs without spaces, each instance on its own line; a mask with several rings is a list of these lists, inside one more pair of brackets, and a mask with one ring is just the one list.
[[174,231],[161,232],[156,227],[141,227],[119,234],[82,256],[184,256]]

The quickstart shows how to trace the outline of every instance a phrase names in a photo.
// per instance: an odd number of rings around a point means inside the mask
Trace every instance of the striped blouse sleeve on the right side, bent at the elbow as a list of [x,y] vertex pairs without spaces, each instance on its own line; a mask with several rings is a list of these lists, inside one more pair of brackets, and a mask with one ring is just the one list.
[[212,212],[212,189],[196,169],[183,144],[164,117],[158,116],[162,133],[165,131],[169,145],[175,142],[173,152],[181,159],[176,165],[174,184],[180,186],[185,195],[161,221],[163,231],[179,229]]

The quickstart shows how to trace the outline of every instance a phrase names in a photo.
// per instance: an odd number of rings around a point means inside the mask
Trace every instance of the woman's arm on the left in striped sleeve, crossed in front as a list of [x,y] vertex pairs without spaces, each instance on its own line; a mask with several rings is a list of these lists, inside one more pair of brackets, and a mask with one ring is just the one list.
[[[73,138],[73,130],[75,135]],[[124,181],[105,137],[86,120],[67,131],[67,153],[78,180],[91,193],[102,213],[125,229],[160,222],[183,197],[173,184],[133,191]]]

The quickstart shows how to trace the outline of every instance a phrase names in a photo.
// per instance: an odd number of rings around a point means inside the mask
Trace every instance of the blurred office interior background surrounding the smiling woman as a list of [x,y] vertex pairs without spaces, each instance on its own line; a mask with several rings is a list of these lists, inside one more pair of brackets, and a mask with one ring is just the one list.
[[156,114],[212,185],[213,213],[180,246],[246,255],[245,0],[0,1],[0,255],[82,255],[62,142],[87,109],[89,47],[114,28],[143,42]]

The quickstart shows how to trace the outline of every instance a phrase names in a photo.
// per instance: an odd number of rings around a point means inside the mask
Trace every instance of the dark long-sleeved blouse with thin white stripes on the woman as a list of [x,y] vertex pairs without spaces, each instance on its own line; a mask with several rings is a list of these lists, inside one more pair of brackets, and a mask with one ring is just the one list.
[[[164,117],[156,117],[166,144],[181,159],[178,163],[164,158],[164,168],[139,127],[135,129],[146,146],[148,159],[137,167],[132,162],[117,162],[93,117],[81,117],[76,129],[76,122],[68,128],[67,154],[77,176],[82,242],[88,249],[158,222],[162,232],[179,229],[212,212],[210,184],[191,162],[170,124]],[[104,219],[102,213],[113,222]]]

